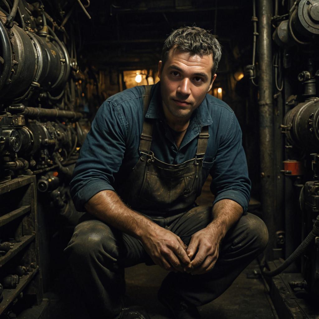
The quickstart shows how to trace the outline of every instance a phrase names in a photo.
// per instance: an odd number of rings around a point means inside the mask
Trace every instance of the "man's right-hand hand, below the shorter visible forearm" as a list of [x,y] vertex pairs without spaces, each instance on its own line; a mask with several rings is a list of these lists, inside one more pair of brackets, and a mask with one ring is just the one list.
[[211,271],[218,259],[219,243],[222,236],[218,230],[204,228],[193,234],[187,255],[191,259],[193,269],[185,267],[192,275],[204,274]]

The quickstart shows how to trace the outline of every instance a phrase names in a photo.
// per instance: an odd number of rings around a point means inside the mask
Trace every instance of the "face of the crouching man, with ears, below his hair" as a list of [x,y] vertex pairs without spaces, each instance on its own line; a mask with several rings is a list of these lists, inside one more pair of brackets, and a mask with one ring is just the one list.
[[172,48],[159,78],[164,114],[171,119],[190,118],[202,103],[216,78],[211,78],[212,54],[197,55]]

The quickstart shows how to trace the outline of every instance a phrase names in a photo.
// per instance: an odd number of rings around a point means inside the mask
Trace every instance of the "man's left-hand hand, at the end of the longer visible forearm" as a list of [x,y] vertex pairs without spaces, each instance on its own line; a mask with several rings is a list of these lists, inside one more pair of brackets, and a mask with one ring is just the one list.
[[171,231],[155,226],[152,232],[141,237],[141,241],[153,262],[165,270],[184,272],[185,267],[192,269],[186,254],[187,246]]

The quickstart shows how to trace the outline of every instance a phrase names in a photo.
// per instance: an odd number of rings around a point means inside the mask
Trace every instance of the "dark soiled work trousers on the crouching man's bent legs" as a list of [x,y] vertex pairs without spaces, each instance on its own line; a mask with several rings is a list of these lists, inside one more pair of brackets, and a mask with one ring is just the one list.
[[[192,234],[211,222],[211,207],[198,206],[171,217],[152,217],[159,226],[177,234],[188,245]],[[169,272],[162,286],[201,306],[221,295],[268,242],[265,224],[247,213],[227,232],[212,271],[202,275]],[[153,264],[137,239],[102,221],[82,221],[65,249],[73,275],[92,318],[116,318],[123,307],[124,268]]]

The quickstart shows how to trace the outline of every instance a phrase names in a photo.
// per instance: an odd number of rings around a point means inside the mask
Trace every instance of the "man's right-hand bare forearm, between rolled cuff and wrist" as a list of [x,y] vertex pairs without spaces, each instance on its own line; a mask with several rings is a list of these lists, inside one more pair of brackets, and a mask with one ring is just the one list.
[[240,219],[242,213],[243,209],[240,204],[231,199],[222,199],[213,206],[213,219],[207,228],[218,229],[221,240],[227,231]]

